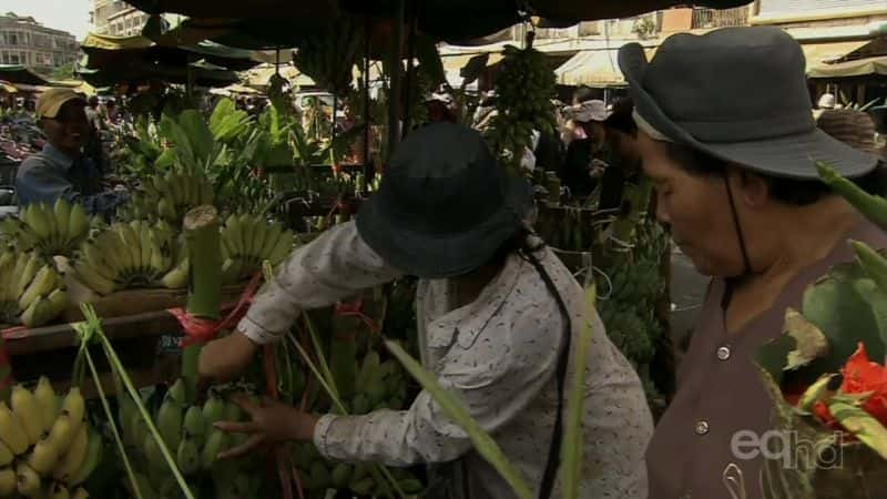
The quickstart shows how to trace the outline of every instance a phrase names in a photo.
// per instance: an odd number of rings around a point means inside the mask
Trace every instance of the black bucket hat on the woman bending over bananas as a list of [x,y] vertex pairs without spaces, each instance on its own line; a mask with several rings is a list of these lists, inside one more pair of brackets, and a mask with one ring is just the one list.
[[395,268],[450,277],[488,263],[521,228],[531,203],[529,182],[499,164],[478,132],[436,123],[400,144],[356,223]]

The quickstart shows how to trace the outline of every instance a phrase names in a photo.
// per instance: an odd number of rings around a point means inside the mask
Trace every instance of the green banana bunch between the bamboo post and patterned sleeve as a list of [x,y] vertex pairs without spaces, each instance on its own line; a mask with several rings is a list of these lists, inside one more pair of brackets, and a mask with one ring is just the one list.
[[293,251],[295,234],[279,222],[261,215],[232,214],[222,227],[222,282],[233,284],[262,269],[264,261],[276,266]]

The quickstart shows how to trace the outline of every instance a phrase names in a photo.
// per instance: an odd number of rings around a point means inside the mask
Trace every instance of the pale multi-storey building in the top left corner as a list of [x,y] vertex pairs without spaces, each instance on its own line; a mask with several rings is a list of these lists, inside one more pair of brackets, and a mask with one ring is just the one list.
[[79,50],[77,39],[67,31],[13,12],[0,16],[0,64],[22,64],[48,73],[74,62]]

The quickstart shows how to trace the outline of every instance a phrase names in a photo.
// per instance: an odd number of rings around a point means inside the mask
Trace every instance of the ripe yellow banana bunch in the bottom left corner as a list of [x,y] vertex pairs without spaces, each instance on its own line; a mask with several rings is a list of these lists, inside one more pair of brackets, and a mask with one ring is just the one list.
[[85,421],[78,388],[64,398],[41,377],[33,391],[17,385],[0,401],[0,497],[83,499],[82,485],[102,459],[101,435]]

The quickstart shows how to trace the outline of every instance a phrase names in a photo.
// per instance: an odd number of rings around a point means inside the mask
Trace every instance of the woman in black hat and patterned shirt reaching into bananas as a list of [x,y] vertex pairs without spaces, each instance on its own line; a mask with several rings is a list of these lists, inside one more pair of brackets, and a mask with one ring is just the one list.
[[[580,497],[644,499],[652,418],[640,379],[597,313],[585,309],[582,287],[526,228],[530,207],[529,185],[496,162],[476,131],[438,123],[411,133],[356,223],[296,249],[237,330],[203,349],[202,375],[236,376],[303,309],[417,275],[426,369],[465,403],[539,498],[560,497],[570,345],[590,326]],[[282,405],[245,409],[251,422],[222,425],[252,435],[233,454],[265,441],[307,440],[334,460],[441,465],[431,469],[442,479],[424,497],[514,497],[427,393],[407,410],[360,416]]]

